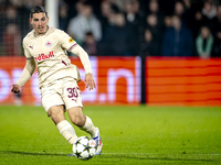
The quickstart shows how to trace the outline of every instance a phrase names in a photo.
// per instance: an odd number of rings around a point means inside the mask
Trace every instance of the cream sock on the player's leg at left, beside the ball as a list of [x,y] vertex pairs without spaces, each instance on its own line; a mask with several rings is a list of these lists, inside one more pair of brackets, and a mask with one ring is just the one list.
[[67,140],[67,142],[70,142],[70,144],[74,144],[77,136],[74,131],[74,128],[69,121],[66,120],[61,121],[60,123],[56,124],[56,129]]

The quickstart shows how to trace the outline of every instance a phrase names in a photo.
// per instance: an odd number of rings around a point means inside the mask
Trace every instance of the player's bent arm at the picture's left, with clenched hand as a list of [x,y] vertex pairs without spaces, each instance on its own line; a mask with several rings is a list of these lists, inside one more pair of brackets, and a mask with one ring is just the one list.
[[25,47],[24,55],[27,57],[27,64],[17,84],[12,85],[11,91],[14,94],[19,94],[21,91],[21,87],[23,87],[23,85],[31,78],[36,67],[34,58],[28,53]]

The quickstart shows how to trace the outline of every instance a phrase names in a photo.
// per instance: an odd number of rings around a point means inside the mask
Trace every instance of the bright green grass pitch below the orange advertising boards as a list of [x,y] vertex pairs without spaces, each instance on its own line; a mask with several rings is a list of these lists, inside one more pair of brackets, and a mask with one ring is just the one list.
[[104,143],[90,161],[67,156],[72,146],[42,107],[0,107],[0,164],[221,164],[219,107],[85,107],[84,113]]

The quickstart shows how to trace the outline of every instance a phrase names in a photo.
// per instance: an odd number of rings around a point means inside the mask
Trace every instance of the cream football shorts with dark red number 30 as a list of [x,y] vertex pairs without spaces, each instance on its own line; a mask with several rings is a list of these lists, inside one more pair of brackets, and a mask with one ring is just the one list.
[[63,78],[44,86],[41,96],[46,112],[52,106],[64,105],[65,109],[83,107],[82,94],[74,78]]

